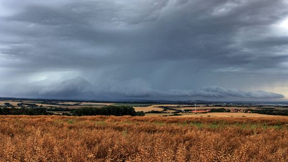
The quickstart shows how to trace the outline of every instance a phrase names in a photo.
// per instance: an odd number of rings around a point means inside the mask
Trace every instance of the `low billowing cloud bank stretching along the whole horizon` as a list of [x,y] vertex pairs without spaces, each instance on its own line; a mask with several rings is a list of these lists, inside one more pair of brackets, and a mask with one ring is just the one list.
[[[12,86],[11,86],[12,87]],[[87,80],[77,77],[64,80],[51,81],[48,79],[32,83],[17,84],[6,92],[9,95],[28,95],[29,97],[44,98],[117,98],[117,96],[128,98],[249,98],[249,99],[278,99],[283,95],[265,91],[243,92],[236,89],[223,88],[219,86],[208,86],[195,90],[167,89],[161,91],[151,88],[151,85],[141,79],[130,80],[126,83],[110,82],[106,86],[94,87]]]

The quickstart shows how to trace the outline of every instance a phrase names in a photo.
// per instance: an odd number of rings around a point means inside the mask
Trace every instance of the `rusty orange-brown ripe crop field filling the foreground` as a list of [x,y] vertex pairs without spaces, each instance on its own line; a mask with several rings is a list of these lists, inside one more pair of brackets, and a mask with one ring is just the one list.
[[0,116],[0,161],[288,161],[287,117]]

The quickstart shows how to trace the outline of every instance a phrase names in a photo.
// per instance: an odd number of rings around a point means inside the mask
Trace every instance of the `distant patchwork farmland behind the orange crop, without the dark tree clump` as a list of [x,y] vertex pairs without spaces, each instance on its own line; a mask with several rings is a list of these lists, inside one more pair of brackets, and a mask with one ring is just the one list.
[[[189,113],[203,114],[213,112],[231,112],[231,113],[258,113],[267,115],[288,115],[287,104],[259,104],[259,103],[213,103],[207,102],[206,104],[197,103],[196,106],[191,102],[111,102],[111,101],[76,101],[76,100],[0,100],[0,108],[13,108],[13,109],[45,109],[49,113],[56,115],[72,115],[77,109],[89,107],[91,109],[99,108],[110,105],[116,106],[132,106],[136,112],[143,112],[147,115],[154,116],[171,116],[176,115],[189,115]],[[45,111],[43,110],[43,111]],[[7,110],[6,110],[7,111]],[[0,110],[1,112],[1,110]],[[1,114],[1,113],[0,113]],[[4,114],[9,115],[9,113]],[[13,114],[11,114],[13,115]],[[15,115],[15,114],[14,114]],[[23,114],[25,115],[25,114]],[[31,114],[26,114],[31,115]],[[41,115],[41,114],[38,114]],[[44,114],[43,114],[44,115]],[[201,116],[201,115],[198,115]],[[204,115],[205,116],[205,115]],[[206,115],[209,116],[209,115]],[[214,116],[214,115],[212,115]],[[218,115],[216,115],[218,116]],[[230,116],[230,115],[227,115]],[[245,115],[244,115],[245,116]],[[250,115],[246,115],[250,116]]]

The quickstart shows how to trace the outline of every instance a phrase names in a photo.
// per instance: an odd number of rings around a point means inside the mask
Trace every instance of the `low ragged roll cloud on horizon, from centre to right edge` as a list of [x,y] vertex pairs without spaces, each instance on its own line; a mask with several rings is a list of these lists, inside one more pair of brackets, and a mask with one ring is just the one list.
[[204,98],[250,98],[250,99],[277,99],[284,98],[283,95],[265,91],[250,91],[243,92],[236,89],[223,88],[219,86],[208,86],[196,90],[190,89],[168,89],[167,91],[160,91],[153,89],[146,83],[141,81],[134,81],[127,86],[110,86],[107,89],[102,89],[107,94],[117,94],[126,97],[204,97]]

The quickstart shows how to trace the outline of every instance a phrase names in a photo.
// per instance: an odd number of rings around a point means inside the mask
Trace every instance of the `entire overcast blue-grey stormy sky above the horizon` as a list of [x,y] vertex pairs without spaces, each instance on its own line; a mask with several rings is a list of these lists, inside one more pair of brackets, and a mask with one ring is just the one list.
[[288,100],[288,1],[0,0],[0,97]]

